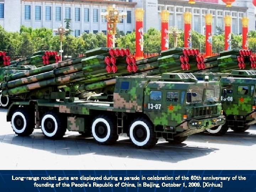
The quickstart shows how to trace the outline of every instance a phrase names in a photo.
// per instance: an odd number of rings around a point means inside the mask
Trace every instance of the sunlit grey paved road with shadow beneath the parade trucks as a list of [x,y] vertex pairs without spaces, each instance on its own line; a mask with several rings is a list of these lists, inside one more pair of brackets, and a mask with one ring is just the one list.
[[18,137],[0,109],[0,170],[255,170],[256,127],[222,137],[191,135],[184,143],[159,140],[153,149],[136,149],[128,137],[115,145],[98,145],[78,132],[66,132],[62,140],[44,138],[40,129],[30,137]]

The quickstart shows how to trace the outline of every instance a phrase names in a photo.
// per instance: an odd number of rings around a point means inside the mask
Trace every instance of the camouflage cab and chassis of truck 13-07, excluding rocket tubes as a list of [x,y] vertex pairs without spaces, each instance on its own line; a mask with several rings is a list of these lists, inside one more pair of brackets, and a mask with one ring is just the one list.
[[192,74],[116,77],[112,102],[74,100],[51,90],[44,90],[48,99],[38,99],[42,90],[35,90],[28,94],[34,99],[12,103],[7,121],[17,135],[30,135],[36,124],[47,138],[59,139],[68,129],[113,144],[127,133],[135,146],[151,148],[160,137],[181,143],[225,123],[218,82],[198,81]]

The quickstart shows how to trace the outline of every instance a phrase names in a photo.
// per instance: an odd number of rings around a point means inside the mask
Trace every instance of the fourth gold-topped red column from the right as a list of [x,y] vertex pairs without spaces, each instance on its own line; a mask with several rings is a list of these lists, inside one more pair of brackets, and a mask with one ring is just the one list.
[[192,19],[192,13],[191,12],[185,12],[183,14],[184,16],[184,47],[191,48],[192,42],[191,42],[191,19]]

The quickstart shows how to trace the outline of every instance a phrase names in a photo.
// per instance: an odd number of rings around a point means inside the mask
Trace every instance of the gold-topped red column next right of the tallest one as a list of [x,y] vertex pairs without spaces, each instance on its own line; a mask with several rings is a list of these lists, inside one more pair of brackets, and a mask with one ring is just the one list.
[[169,11],[162,10],[161,13],[161,50],[169,49]]

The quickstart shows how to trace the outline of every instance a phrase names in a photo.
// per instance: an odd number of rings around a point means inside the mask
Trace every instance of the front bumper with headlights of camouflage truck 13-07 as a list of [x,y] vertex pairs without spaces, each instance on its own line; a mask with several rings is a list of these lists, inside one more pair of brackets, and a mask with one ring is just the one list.
[[[206,129],[210,129],[216,126],[221,126],[225,124],[225,116],[221,115],[219,117],[208,118],[208,119],[192,119],[187,123],[187,130],[183,131],[182,133],[177,134],[176,136],[188,136],[195,133],[200,133],[205,131]],[[184,124],[183,127],[186,127]]]

